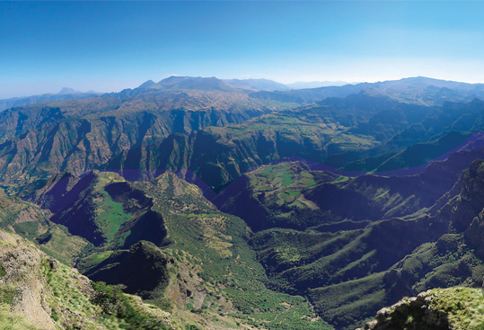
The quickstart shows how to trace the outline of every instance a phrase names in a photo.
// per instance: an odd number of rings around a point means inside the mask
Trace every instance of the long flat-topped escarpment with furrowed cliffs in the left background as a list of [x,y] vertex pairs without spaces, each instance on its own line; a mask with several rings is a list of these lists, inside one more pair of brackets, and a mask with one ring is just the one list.
[[[200,84],[207,80],[200,78]],[[158,85],[2,112],[2,182],[25,183],[31,176],[47,177],[59,171],[80,175],[95,168],[156,170],[163,156],[158,151],[152,159],[153,150],[147,146],[160,147],[172,134],[175,139],[177,134],[189,137],[207,126],[240,123],[278,109],[277,104],[260,102],[237,89],[154,86]],[[170,147],[171,142],[165,144]]]

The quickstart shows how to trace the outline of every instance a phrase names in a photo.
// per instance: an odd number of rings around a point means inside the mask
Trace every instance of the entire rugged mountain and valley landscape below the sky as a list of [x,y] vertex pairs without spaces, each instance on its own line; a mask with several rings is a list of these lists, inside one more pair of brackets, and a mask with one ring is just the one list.
[[[481,285],[483,94],[172,76],[2,111],[0,227],[18,236],[0,231],[0,313],[32,329],[469,325],[415,307]],[[39,271],[23,296],[13,249]],[[26,295],[43,312],[18,309]]]

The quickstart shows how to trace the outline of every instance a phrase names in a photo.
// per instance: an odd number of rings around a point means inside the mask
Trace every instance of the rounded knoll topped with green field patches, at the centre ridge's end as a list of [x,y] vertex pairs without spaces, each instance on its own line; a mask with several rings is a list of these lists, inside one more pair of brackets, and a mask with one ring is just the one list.
[[[304,228],[321,224],[324,217],[306,191],[316,184],[348,180],[324,171],[311,171],[303,162],[263,165],[243,174],[214,199],[219,210],[241,217],[254,231],[269,227]],[[327,215],[329,216],[329,215]],[[330,217],[330,216],[329,216]]]

